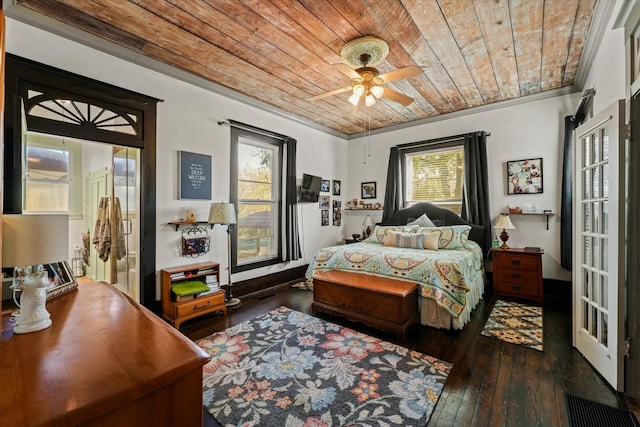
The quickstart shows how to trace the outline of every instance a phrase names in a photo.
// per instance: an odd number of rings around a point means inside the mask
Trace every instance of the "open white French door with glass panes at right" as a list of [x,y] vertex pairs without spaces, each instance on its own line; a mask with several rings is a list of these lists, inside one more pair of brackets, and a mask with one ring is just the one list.
[[574,345],[618,391],[624,385],[624,101],[576,129]]

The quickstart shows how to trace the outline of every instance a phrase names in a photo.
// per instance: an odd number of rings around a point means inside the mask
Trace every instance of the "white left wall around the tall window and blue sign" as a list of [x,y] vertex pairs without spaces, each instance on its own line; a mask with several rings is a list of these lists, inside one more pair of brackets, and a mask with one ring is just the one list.
[[[218,121],[234,119],[289,135],[298,141],[298,179],[306,172],[325,179],[340,179],[343,185],[347,184],[347,142],[344,139],[150,71],[14,19],[7,18],[6,24],[6,47],[9,53],[163,100],[158,104],[157,112],[158,270],[194,261],[217,261],[223,268],[227,265],[225,229],[215,227],[211,230],[212,250],[194,260],[179,256],[177,242],[180,233],[167,224],[183,216],[186,207],[195,209],[197,219],[204,220],[208,216],[210,201],[177,199],[179,150],[211,155],[212,199],[229,200],[230,130],[228,126],[219,126]],[[342,227],[320,226],[320,211],[316,204],[301,205],[299,212],[301,235],[304,236],[304,259],[289,265],[234,274],[233,281],[303,265],[317,249],[341,240]],[[226,283],[225,272],[221,280]],[[159,297],[159,289],[157,295]]]

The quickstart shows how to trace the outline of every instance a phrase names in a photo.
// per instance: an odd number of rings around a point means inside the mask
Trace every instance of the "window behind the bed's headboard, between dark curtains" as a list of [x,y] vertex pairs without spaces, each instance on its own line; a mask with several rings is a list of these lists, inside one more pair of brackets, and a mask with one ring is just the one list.
[[405,203],[430,202],[460,215],[464,187],[463,141],[420,147],[403,155]]

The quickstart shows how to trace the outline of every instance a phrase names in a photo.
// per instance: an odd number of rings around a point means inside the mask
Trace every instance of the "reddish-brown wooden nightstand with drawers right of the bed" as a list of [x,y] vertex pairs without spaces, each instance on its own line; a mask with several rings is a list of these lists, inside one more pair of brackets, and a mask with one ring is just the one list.
[[542,290],[542,254],[544,250],[521,248],[493,249],[493,293],[537,301],[544,300]]

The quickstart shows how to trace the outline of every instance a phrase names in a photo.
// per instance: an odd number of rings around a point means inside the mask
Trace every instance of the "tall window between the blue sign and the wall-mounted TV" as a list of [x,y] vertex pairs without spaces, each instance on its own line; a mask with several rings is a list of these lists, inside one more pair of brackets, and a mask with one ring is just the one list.
[[234,127],[231,141],[232,271],[281,262],[282,141]]

